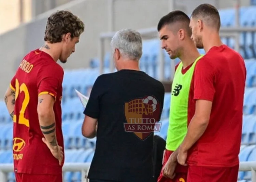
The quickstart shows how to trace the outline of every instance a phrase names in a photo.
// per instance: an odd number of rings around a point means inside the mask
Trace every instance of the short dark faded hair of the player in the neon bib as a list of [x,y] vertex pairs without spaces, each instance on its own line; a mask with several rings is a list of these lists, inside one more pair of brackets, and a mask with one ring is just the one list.
[[190,18],[184,13],[183,11],[176,10],[168,13],[167,15],[163,16],[157,25],[157,30],[160,31],[163,26],[173,24],[173,23],[184,23],[184,29],[190,34],[191,36],[191,30],[189,29],[189,22]]

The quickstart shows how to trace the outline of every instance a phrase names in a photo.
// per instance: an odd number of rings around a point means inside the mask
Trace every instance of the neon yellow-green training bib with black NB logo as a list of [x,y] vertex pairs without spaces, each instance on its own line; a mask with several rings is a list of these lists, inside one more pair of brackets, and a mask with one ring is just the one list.
[[201,57],[202,55],[194,61],[193,65],[185,74],[182,74],[182,62],[180,62],[175,71],[172,82],[169,127],[166,140],[167,150],[176,150],[181,145],[187,133],[188,96],[190,84],[196,62]]

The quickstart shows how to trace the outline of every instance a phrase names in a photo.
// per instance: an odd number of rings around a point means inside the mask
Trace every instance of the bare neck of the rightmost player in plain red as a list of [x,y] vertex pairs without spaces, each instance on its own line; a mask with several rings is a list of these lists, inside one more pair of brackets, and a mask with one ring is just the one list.
[[218,32],[209,32],[205,35],[206,38],[202,40],[203,49],[207,53],[212,47],[219,47],[223,45]]

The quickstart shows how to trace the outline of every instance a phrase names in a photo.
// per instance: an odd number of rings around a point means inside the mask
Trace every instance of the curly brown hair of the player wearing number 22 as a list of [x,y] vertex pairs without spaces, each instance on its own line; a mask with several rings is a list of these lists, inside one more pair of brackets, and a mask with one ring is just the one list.
[[79,37],[84,32],[84,26],[82,20],[70,11],[57,11],[47,19],[44,41],[61,42],[62,35],[67,33],[71,33],[71,38]]

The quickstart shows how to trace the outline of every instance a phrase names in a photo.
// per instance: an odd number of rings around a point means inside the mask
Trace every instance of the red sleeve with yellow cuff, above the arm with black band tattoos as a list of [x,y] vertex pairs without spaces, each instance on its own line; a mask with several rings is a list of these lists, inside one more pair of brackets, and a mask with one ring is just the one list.
[[56,98],[63,74],[63,69],[59,65],[42,67],[38,73],[38,95],[49,94]]

